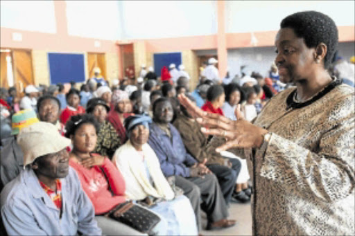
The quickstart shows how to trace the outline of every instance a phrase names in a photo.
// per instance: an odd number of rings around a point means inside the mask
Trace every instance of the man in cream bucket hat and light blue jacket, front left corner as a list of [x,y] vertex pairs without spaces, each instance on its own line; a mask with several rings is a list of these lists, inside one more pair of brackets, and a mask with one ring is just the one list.
[[25,170],[1,192],[8,235],[101,235],[92,203],[69,167],[71,140],[49,122],[37,122],[22,129],[17,142]]

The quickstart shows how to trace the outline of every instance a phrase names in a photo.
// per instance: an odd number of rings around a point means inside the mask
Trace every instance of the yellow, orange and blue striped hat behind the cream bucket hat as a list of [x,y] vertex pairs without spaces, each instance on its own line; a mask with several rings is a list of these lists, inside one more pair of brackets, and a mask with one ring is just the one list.
[[19,131],[24,127],[33,125],[34,123],[40,122],[38,120],[35,111],[33,109],[26,109],[15,113],[12,116],[12,135],[19,134]]

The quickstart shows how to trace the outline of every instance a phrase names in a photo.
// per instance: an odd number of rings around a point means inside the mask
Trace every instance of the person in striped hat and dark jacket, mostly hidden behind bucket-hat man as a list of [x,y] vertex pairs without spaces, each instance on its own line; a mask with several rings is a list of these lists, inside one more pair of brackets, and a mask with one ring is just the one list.
[[3,140],[3,148],[0,151],[0,191],[24,168],[24,154],[17,144],[17,134],[21,129],[35,122],[39,120],[33,109],[21,110],[12,116],[12,136]]

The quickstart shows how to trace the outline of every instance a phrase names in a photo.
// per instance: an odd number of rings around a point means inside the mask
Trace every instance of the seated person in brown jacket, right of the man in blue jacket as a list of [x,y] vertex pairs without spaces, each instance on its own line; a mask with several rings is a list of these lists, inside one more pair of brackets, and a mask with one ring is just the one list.
[[[195,102],[192,96],[186,95],[191,101]],[[236,158],[224,158],[209,148],[205,134],[202,134],[201,126],[180,106],[181,114],[173,122],[173,125],[180,131],[180,135],[185,147],[197,161],[203,162],[207,159],[207,167],[216,174],[223,192],[225,203],[229,203],[236,188],[236,178],[241,170],[241,162]]]

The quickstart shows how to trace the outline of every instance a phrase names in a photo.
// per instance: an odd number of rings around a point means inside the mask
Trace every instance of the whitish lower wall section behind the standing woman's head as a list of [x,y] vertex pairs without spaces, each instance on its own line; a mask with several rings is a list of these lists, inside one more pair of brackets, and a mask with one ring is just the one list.
[[[354,42],[343,42],[338,46],[339,55],[345,60],[355,54]],[[228,50],[227,64],[230,69],[230,76],[241,75],[242,65],[248,65],[245,70],[250,75],[252,71],[257,71],[263,76],[268,76],[268,71],[275,60],[275,47],[259,48],[236,48]]]

